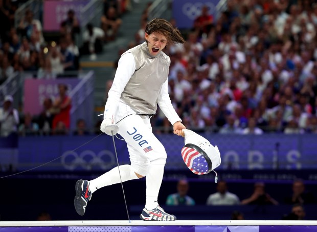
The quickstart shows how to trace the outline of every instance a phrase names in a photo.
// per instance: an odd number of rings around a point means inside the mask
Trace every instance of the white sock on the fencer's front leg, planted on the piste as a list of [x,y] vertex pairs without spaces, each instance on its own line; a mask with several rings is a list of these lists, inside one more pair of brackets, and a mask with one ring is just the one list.
[[156,208],[157,197],[159,196],[165,164],[150,164],[146,175],[146,202],[145,207],[148,210]]

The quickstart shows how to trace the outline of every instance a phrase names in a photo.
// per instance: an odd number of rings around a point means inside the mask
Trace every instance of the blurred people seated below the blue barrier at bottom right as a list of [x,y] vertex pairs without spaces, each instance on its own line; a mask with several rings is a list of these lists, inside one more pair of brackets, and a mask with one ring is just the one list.
[[[197,197],[197,193],[194,195],[195,191],[189,192],[190,183],[186,179],[179,179],[176,185],[177,192],[169,194],[166,198],[166,205],[196,205],[194,198]],[[214,193],[211,193],[206,199],[206,205],[211,206],[230,206],[230,205],[254,205],[262,206],[265,205],[291,205],[291,211],[285,212],[284,215],[281,215],[277,220],[304,220],[306,216],[305,206],[316,204],[316,198],[312,192],[310,192],[304,181],[301,179],[296,179],[289,187],[289,194],[280,198],[279,201],[275,199],[278,195],[277,192],[270,195],[266,190],[266,185],[264,182],[255,182],[253,184],[253,192],[247,193],[245,196],[238,196],[236,193],[229,192],[228,183],[225,180],[220,180],[216,187]],[[247,192],[247,191],[245,191]],[[241,194],[241,193],[240,193]],[[201,199],[196,199],[201,202]],[[240,208],[241,209],[241,208]],[[232,212],[231,220],[244,220],[244,215],[235,211]]]

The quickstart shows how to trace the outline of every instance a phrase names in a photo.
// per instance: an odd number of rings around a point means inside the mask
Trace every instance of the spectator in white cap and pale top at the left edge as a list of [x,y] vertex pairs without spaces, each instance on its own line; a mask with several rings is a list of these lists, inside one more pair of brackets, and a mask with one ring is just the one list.
[[17,133],[19,124],[19,114],[13,108],[13,97],[6,95],[3,108],[0,108],[0,136],[8,137],[12,133]]

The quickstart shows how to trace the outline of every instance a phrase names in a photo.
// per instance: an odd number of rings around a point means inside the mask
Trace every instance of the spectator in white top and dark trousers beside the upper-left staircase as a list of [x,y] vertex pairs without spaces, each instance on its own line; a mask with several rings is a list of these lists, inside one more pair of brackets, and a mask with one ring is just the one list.
[[105,33],[102,29],[94,27],[92,24],[87,24],[86,30],[83,33],[83,47],[81,54],[90,54],[90,60],[96,60],[96,54],[103,50],[103,41]]

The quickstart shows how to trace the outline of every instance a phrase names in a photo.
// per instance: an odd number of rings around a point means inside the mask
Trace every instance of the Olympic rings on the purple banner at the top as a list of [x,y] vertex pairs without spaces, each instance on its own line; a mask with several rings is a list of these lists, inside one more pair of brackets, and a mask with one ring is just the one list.
[[201,14],[201,9],[203,6],[207,6],[209,8],[209,14],[213,14],[215,12],[215,5],[211,2],[206,3],[185,3],[182,7],[182,12],[190,19],[194,20]]

